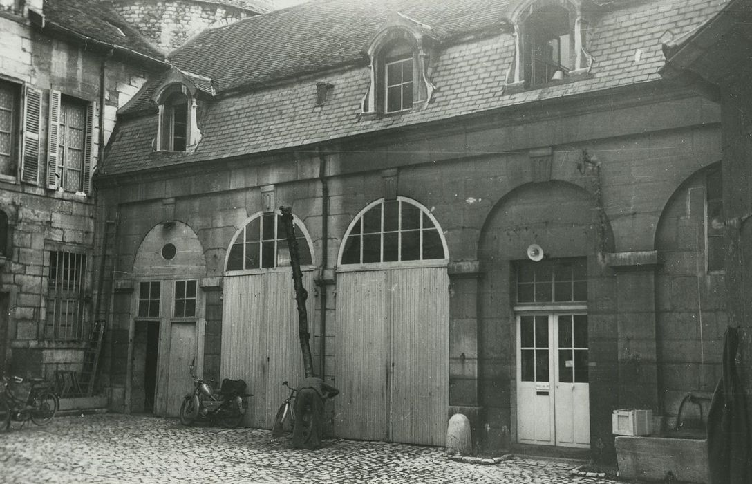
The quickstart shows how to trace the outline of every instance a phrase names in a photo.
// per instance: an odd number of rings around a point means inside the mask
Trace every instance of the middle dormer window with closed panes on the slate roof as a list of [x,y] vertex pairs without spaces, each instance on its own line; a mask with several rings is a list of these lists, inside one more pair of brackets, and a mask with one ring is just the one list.
[[364,114],[390,114],[424,108],[434,87],[428,65],[431,28],[395,14],[368,47],[371,86],[363,98]]

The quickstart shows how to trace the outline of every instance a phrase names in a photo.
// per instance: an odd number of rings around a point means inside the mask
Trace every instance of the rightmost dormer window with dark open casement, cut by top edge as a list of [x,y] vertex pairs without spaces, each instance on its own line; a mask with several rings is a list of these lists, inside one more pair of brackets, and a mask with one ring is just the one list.
[[581,0],[521,0],[512,6],[516,55],[508,84],[540,87],[587,73],[592,57],[584,50]]

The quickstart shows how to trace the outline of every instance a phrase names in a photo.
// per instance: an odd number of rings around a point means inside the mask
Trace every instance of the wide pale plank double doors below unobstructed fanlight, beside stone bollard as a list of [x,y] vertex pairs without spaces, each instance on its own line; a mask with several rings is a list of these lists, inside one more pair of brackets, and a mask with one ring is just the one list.
[[335,432],[443,446],[449,400],[446,267],[337,277]]

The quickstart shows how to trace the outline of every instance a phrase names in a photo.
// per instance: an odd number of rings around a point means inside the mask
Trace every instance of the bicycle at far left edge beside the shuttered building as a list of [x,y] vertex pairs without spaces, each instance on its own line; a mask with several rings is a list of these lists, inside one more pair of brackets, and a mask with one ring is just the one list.
[[[31,383],[26,399],[17,397],[11,390],[11,383],[20,385],[24,381]],[[31,420],[35,425],[47,425],[60,408],[57,394],[41,378],[23,379],[20,376],[2,377],[2,394],[0,394],[0,431],[11,429],[11,419],[24,424]]]

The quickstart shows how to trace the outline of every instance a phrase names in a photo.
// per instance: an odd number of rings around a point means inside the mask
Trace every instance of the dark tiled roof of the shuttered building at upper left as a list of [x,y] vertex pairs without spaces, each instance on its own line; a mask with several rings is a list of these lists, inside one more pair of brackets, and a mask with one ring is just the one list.
[[48,23],[86,35],[105,44],[164,59],[164,54],[129,25],[108,2],[100,0],[44,0]]

